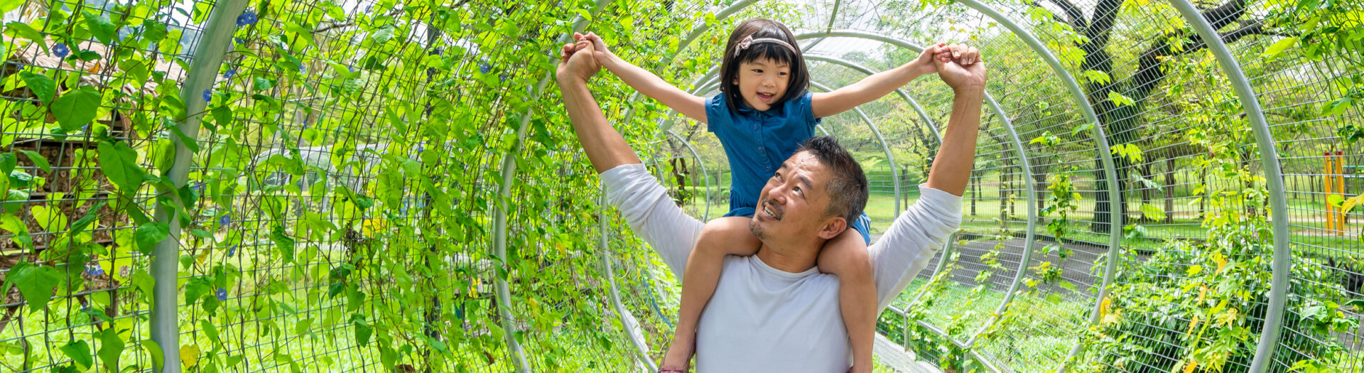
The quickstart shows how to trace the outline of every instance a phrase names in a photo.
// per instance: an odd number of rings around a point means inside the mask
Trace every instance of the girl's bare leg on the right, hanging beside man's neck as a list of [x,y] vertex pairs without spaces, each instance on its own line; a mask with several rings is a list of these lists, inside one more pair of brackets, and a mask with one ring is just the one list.
[[839,276],[839,309],[853,343],[853,373],[872,372],[872,344],[876,337],[876,283],[866,240],[853,228],[824,243],[820,272]]

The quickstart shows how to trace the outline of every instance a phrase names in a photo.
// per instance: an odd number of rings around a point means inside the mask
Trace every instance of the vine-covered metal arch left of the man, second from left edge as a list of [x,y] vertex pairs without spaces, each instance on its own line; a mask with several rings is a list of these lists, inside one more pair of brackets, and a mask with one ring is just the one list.
[[[593,4],[593,8],[591,11],[591,14],[596,15],[608,3],[611,3],[611,0],[596,0],[596,3]],[[573,19],[573,27],[572,27],[572,30],[574,33],[582,31],[582,30],[587,29],[588,23],[589,23],[589,20],[587,18],[584,18],[582,15],[577,15]],[[562,37],[559,37],[559,42],[561,44],[562,42],[569,42],[569,41],[573,41],[573,34],[572,33],[566,33]],[[554,63],[558,64],[558,60],[555,60]],[[529,97],[532,97],[532,98],[540,97],[540,94],[544,93],[544,87],[547,85],[550,85],[550,78],[552,78],[552,77],[554,77],[554,70],[546,71],[544,77],[540,78],[540,81],[536,82],[535,86],[531,86],[528,89],[529,93],[531,93]],[[492,216],[494,216],[492,217],[492,247],[491,247],[492,249],[492,257],[499,261],[499,265],[503,266],[503,269],[507,272],[507,276],[510,276],[512,271],[510,271],[510,268],[506,268],[506,265],[507,265],[507,260],[506,260],[506,253],[507,253],[507,210],[506,210],[506,204],[507,204],[507,201],[506,199],[512,197],[512,182],[516,178],[516,169],[517,169],[516,156],[518,153],[521,153],[521,148],[525,143],[527,130],[529,128],[529,124],[531,124],[531,109],[532,108],[527,108],[524,112],[521,112],[521,123],[520,123],[520,126],[517,127],[517,131],[516,131],[516,142],[512,143],[512,149],[509,149],[507,153],[502,157],[502,186],[498,189],[498,198],[494,199],[494,202],[492,202]],[[513,366],[516,366],[517,372],[529,373],[531,372],[531,365],[529,365],[529,361],[527,361],[527,358],[525,358],[525,350],[522,350],[521,348],[521,343],[518,343],[516,340],[516,328],[514,328],[516,327],[516,324],[514,324],[516,318],[513,318],[513,316],[512,316],[512,290],[510,290],[510,286],[507,284],[507,280],[503,279],[502,276],[494,276],[494,277],[495,277],[494,279],[494,287],[496,287],[496,294],[498,294],[498,302],[496,302],[498,316],[501,316],[501,318],[502,318],[502,331],[505,331],[502,336],[503,336],[503,339],[507,343],[507,350],[509,350],[509,353],[512,355]]]

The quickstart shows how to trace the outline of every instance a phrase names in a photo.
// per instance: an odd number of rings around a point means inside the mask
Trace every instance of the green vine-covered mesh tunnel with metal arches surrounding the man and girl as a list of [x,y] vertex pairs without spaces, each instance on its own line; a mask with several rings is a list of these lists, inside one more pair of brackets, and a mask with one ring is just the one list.
[[[989,66],[960,231],[891,301],[893,372],[1364,372],[1364,5],[1316,0],[10,1],[5,372],[656,370],[677,275],[603,204],[558,45],[701,96],[786,23],[813,92],[937,41]],[[713,134],[600,72],[689,215]],[[825,118],[917,199],[952,92]],[[1356,197],[1359,195],[1359,197]]]

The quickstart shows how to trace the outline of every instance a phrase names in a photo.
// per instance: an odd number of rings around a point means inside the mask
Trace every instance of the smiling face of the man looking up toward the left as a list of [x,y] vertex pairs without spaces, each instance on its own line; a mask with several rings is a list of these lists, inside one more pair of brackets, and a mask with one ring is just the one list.
[[810,154],[799,152],[786,160],[758,194],[758,206],[749,223],[753,235],[765,243],[831,239],[842,232],[825,232],[827,224],[842,217],[825,217],[829,194],[829,168]]

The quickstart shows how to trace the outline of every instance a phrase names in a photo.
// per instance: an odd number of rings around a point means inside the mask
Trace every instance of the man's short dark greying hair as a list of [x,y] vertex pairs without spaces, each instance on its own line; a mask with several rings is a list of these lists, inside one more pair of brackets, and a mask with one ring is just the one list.
[[795,152],[810,152],[832,171],[829,183],[824,186],[829,193],[829,208],[824,210],[824,217],[842,216],[851,227],[853,221],[862,216],[869,193],[862,165],[832,137],[812,137]]

